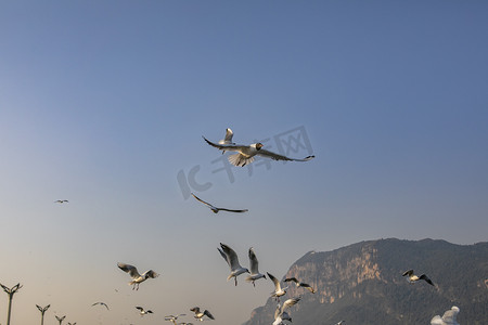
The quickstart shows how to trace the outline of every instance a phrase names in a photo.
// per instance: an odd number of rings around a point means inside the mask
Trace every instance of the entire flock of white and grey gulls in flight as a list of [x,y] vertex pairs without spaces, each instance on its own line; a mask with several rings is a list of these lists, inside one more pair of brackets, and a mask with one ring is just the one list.
[[[232,138],[233,138],[233,132],[231,129],[226,130],[224,139],[220,140],[218,143],[214,143],[214,142],[207,140],[205,136],[203,136],[203,139],[205,140],[206,143],[220,150],[222,152],[222,154],[226,152],[236,152],[236,154],[230,155],[228,157],[228,159],[232,165],[237,166],[237,167],[244,167],[248,164],[252,164],[255,159],[255,156],[270,158],[273,160],[288,160],[288,161],[308,161],[308,160],[314,158],[314,156],[308,156],[303,159],[290,158],[290,157],[279,155],[279,154],[272,153],[270,151],[264,150],[262,143],[258,142],[258,143],[253,143],[249,145],[240,145],[240,144],[233,143]],[[222,207],[216,207],[213,204],[209,204],[209,203],[201,199],[193,193],[192,193],[192,196],[197,202],[207,206],[214,213],[218,213],[219,211],[227,211],[227,212],[234,212],[234,213],[243,213],[243,212],[248,211],[247,209],[228,209],[228,208],[222,208]],[[65,203],[68,203],[68,200],[67,199],[59,199],[59,200],[55,200],[55,203],[65,204]],[[274,290],[270,294],[270,297],[275,299],[277,308],[275,308],[274,320],[273,320],[272,325],[287,324],[287,323],[284,323],[285,321],[292,322],[292,317],[288,313],[290,309],[293,306],[297,304],[303,299],[303,295],[299,295],[298,297],[288,298],[283,303],[281,303],[280,300],[283,296],[286,295],[286,289],[288,288],[288,286],[282,287],[280,281],[269,272],[266,272],[266,274],[259,272],[259,266],[258,266],[259,262],[258,262],[258,259],[256,257],[256,253],[255,253],[253,247],[251,247],[247,252],[248,259],[249,259],[251,271],[249,271],[249,269],[241,265],[236,252],[228,245],[220,243],[220,247],[218,247],[217,249],[218,249],[220,256],[226,260],[226,262],[230,269],[230,273],[229,273],[229,276],[227,277],[227,281],[231,281],[233,278],[235,286],[237,286],[237,276],[241,274],[244,274],[244,273],[248,274],[246,276],[245,281],[248,283],[252,283],[253,286],[256,286],[256,282],[261,278],[265,278],[265,280],[269,278],[273,283]],[[117,266],[121,271],[128,273],[129,276],[131,277],[129,285],[132,286],[132,290],[139,290],[139,285],[141,283],[145,282],[146,280],[156,278],[157,276],[159,276],[159,274],[153,270],[147,270],[144,273],[140,274],[136,266],[126,264],[126,263],[119,262],[119,263],[117,263]],[[434,286],[434,283],[431,281],[431,278],[427,277],[427,275],[425,275],[425,274],[415,275],[413,270],[406,271],[402,274],[402,276],[407,276],[407,280],[412,284],[423,280],[427,284]],[[293,283],[297,288],[298,287],[304,288],[305,290],[308,290],[311,294],[317,292],[317,290],[312,286],[297,280],[296,277],[284,278],[284,283],[287,283],[287,284]],[[94,302],[92,306],[93,307],[102,306],[107,311],[110,310],[108,306],[102,301]],[[139,314],[141,316],[153,313],[151,310],[145,310],[144,308],[142,308],[140,306],[136,307],[136,309],[139,311]],[[210,311],[208,311],[206,309],[202,311],[200,307],[193,307],[192,309],[190,309],[190,311],[194,313],[193,317],[195,321],[203,322],[203,321],[215,320],[215,317],[210,313]],[[452,310],[447,311],[442,317],[440,317],[438,315],[435,316],[432,320],[432,324],[435,324],[435,325],[448,324],[448,323],[442,323],[442,322],[445,318],[447,320],[449,317],[450,318],[454,317],[454,322],[455,322],[457,313],[459,313],[459,308],[453,307]],[[167,316],[165,316],[165,321],[171,322],[174,325],[191,325],[192,324],[192,323],[185,323],[185,322],[178,323],[178,318],[181,316],[185,316],[185,314],[167,315]],[[57,318],[57,316],[56,316],[56,318]],[[59,321],[61,324],[62,320],[59,318]],[[336,325],[342,325],[346,321],[344,321],[344,320],[339,321],[338,323],[336,323]],[[452,324],[457,324],[457,323],[452,323]]]

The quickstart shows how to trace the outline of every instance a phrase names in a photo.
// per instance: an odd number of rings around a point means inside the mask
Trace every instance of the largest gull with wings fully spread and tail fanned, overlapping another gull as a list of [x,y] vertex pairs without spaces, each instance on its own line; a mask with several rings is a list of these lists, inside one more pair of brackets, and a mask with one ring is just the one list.
[[273,160],[288,160],[288,161],[308,161],[316,156],[308,156],[304,159],[295,159],[295,158],[288,158],[286,156],[282,156],[272,152],[269,152],[267,150],[262,148],[262,143],[253,143],[249,145],[243,145],[243,144],[217,144],[211,141],[208,141],[205,136],[203,139],[211,146],[221,150],[223,152],[237,152],[239,154],[230,155],[229,156],[229,162],[239,166],[244,167],[247,164],[251,164],[254,161],[254,156],[258,155],[266,158],[271,158]]

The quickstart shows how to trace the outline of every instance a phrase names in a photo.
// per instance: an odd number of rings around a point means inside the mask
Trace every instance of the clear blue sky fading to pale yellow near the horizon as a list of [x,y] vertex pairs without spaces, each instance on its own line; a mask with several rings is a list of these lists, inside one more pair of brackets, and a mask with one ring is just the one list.
[[[219,243],[281,278],[361,240],[486,242],[487,16],[450,0],[2,2],[11,324],[39,322],[35,304],[46,325],[191,322],[194,306],[242,324],[273,286],[227,282]],[[226,128],[316,158],[229,168],[202,139]],[[160,276],[132,291],[117,262]]]

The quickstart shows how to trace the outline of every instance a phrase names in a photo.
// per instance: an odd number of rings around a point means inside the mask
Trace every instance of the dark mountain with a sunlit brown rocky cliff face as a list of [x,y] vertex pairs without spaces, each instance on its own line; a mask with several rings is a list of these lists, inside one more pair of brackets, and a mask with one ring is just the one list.
[[[402,273],[413,269],[434,282],[410,284]],[[292,283],[285,299],[301,295],[290,314],[294,325],[431,324],[432,317],[461,309],[461,325],[488,324],[488,243],[454,245],[445,240],[361,242],[333,251],[307,252],[286,272],[317,289]],[[243,325],[270,325],[277,302],[268,299]]]

